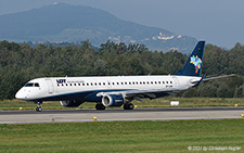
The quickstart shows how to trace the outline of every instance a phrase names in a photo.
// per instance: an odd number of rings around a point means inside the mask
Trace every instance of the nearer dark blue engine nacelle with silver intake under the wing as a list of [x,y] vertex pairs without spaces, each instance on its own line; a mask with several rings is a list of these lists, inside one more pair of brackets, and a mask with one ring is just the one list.
[[120,94],[107,94],[102,98],[104,106],[121,106],[124,103],[125,99]]

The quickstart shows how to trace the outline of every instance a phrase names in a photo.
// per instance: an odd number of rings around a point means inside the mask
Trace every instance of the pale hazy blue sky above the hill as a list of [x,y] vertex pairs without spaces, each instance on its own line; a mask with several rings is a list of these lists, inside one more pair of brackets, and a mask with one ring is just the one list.
[[0,0],[0,15],[69,3],[107,11],[120,20],[195,37],[221,48],[244,44],[244,0]]

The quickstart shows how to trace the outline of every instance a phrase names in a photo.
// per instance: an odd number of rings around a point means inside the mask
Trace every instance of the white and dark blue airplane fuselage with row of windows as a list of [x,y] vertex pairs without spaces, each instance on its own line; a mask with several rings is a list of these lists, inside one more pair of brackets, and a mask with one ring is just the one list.
[[[190,76],[106,76],[106,77],[53,77],[28,81],[16,93],[16,98],[27,101],[80,100],[101,102],[99,92],[126,90],[150,90],[193,86],[201,77]],[[168,95],[156,93],[156,98]]]

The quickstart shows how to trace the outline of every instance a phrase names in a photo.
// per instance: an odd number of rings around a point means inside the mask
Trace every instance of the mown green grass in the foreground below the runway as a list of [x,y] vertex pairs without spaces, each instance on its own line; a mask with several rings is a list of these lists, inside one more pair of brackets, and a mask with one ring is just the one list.
[[0,125],[1,152],[187,152],[241,146],[244,120]]

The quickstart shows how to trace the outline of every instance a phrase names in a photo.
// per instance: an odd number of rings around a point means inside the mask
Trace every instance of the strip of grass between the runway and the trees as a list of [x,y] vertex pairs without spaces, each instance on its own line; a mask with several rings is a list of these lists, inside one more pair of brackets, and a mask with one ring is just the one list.
[[[176,98],[166,97],[155,100],[143,100],[142,102],[133,101],[133,104],[138,107],[167,107],[170,106],[170,101],[179,101],[179,106],[244,106],[244,99],[237,98]],[[20,101],[20,100],[4,100],[0,101],[0,110],[18,110],[23,107],[24,110],[35,110],[36,104],[33,102]],[[44,110],[61,110],[68,109],[60,104],[60,102],[43,102],[42,107]],[[94,109],[95,103],[84,103],[79,109]]]

